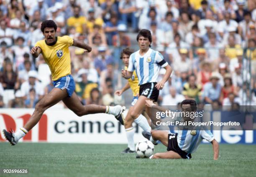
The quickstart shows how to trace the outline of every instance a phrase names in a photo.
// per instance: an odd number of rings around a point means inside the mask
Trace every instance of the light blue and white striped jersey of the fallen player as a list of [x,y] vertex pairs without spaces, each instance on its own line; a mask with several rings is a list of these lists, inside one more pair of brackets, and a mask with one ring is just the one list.
[[214,140],[212,132],[209,130],[178,130],[177,142],[179,148],[189,154],[197,150],[203,139],[208,142]]

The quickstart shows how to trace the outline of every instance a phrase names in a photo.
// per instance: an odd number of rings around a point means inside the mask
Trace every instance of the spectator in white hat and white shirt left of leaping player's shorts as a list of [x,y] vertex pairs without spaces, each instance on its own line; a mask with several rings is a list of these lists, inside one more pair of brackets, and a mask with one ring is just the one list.
[[38,74],[36,71],[30,71],[28,72],[28,81],[22,83],[20,91],[25,99],[29,97],[31,88],[35,90],[38,100],[41,100],[41,98],[44,96],[44,87],[37,80],[37,76]]

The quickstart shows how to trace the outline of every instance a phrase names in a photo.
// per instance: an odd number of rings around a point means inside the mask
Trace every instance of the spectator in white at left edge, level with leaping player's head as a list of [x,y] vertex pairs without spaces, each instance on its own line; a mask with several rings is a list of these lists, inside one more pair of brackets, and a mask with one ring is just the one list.
[[13,44],[13,30],[7,27],[6,21],[0,22],[0,42],[5,41],[7,46]]

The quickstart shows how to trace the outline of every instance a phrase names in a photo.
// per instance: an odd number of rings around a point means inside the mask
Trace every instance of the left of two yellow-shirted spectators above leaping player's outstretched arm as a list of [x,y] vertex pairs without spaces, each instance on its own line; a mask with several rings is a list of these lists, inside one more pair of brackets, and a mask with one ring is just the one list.
[[74,16],[69,17],[67,19],[67,26],[68,27],[75,27],[76,32],[78,33],[85,33],[86,32],[86,18],[82,15],[80,15],[81,8],[79,6],[75,6],[73,8],[74,10]]

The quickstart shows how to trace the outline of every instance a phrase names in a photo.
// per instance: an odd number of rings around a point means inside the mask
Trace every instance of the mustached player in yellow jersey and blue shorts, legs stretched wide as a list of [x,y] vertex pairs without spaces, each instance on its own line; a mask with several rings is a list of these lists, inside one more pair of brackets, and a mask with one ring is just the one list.
[[74,40],[69,36],[57,37],[57,25],[53,20],[45,20],[41,24],[41,31],[45,40],[36,42],[36,45],[31,49],[33,57],[38,57],[41,53],[44,60],[49,65],[52,75],[54,88],[51,92],[45,95],[35,107],[35,110],[24,127],[21,127],[17,132],[7,132],[3,130],[5,138],[11,145],[16,145],[20,138],[24,137],[41,119],[44,111],[55,105],[59,101],[72,110],[76,115],[83,116],[95,113],[107,113],[114,115],[120,122],[123,121],[122,112],[125,107],[117,106],[99,106],[86,105],[83,106],[79,101],[77,94],[74,92],[75,82],[71,73],[71,59],[69,46],[76,46],[90,52],[92,48],[87,44]]

